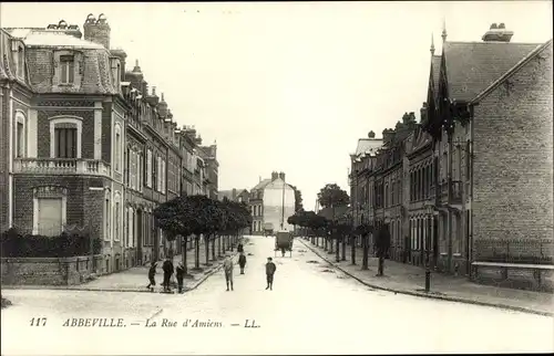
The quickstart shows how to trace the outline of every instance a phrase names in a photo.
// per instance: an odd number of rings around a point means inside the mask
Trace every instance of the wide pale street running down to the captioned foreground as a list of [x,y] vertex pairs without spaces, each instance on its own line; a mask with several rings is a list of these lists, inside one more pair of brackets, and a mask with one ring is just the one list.
[[[253,255],[245,275],[236,266],[234,292],[226,292],[223,272],[185,295],[3,291],[14,306],[2,311],[2,354],[554,350],[550,317],[372,291],[300,244],[291,258],[275,258],[274,291],[266,291],[264,264],[274,241],[250,241],[245,250]],[[43,316],[47,326],[29,326],[31,317]],[[72,317],[121,317],[126,326],[62,326]],[[156,326],[145,326],[147,318]],[[164,320],[176,326],[162,326]],[[246,320],[259,327],[244,327]]]

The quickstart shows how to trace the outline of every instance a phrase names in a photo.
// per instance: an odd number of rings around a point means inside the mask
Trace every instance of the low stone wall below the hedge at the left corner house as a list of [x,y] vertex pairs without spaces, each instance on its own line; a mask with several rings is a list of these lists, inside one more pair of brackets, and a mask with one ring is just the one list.
[[103,274],[103,258],[2,258],[2,284],[75,285]]

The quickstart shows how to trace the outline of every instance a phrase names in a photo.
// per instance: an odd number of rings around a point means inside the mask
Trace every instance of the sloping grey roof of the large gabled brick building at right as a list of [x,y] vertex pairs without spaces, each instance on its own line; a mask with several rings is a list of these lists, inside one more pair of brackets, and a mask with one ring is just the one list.
[[469,102],[525,57],[540,43],[444,42],[451,100]]

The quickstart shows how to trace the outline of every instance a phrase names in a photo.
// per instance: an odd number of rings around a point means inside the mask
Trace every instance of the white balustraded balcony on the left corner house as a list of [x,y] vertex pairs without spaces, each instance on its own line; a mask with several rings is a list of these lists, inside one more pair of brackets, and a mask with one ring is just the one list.
[[102,160],[71,158],[14,159],[13,171],[31,175],[111,176],[110,166]]

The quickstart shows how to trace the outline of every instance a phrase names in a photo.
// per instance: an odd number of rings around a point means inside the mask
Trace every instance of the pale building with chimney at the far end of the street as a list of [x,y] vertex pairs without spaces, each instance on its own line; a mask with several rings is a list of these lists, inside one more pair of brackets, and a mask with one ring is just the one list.
[[274,171],[271,179],[260,180],[250,189],[252,233],[264,234],[266,229],[293,231],[287,219],[295,214],[295,190],[286,182],[283,171]]

